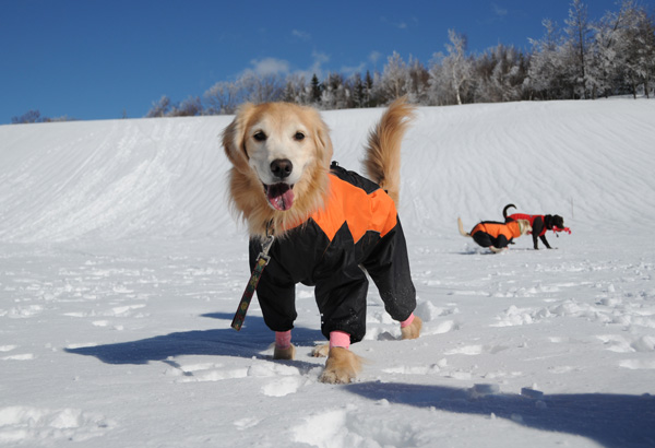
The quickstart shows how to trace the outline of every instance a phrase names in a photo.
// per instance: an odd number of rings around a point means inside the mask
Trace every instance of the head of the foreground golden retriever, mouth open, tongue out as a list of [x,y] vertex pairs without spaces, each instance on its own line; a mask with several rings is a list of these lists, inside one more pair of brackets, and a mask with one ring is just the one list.
[[259,193],[276,211],[290,210],[307,194],[332,157],[319,114],[288,103],[242,106],[225,130],[223,143],[238,175],[259,184]]

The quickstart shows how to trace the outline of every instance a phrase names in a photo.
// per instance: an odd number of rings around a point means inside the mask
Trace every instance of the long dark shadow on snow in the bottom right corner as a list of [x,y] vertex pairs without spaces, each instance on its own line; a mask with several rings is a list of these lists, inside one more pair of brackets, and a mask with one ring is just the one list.
[[535,400],[497,393],[473,398],[468,389],[359,382],[346,389],[370,400],[512,420],[541,431],[569,433],[607,448],[655,446],[655,397],[610,393],[545,394]]

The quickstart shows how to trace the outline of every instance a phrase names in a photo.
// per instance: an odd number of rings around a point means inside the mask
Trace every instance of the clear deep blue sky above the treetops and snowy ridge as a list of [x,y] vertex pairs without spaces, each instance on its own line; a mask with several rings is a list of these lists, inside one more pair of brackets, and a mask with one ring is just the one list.
[[[591,19],[616,0],[587,0]],[[653,4],[654,0],[641,4]],[[246,70],[382,70],[393,51],[427,63],[448,30],[469,51],[529,48],[569,0],[0,0],[0,123],[43,116],[143,117],[162,95],[202,96]]]

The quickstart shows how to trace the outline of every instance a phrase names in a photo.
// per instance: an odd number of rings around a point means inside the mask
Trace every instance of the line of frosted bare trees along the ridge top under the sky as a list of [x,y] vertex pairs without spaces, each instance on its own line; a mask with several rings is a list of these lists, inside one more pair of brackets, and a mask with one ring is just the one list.
[[329,73],[257,75],[221,81],[203,99],[189,97],[174,104],[163,96],[148,117],[234,114],[243,102],[287,101],[320,109],[386,105],[401,95],[415,104],[444,106],[531,99],[594,99],[630,94],[650,97],[655,89],[655,21],[634,0],[598,21],[586,5],[573,0],[565,26],[545,20],[545,34],[531,39],[524,52],[499,44],[481,55],[466,51],[466,36],[449,31],[445,52],[429,64],[394,52],[382,72],[344,76]]

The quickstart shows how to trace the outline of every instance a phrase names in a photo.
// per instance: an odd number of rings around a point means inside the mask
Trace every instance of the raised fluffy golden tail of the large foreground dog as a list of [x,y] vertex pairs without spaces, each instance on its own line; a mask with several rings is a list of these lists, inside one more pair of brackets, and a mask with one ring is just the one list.
[[368,177],[386,190],[396,208],[401,196],[401,143],[414,110],[406,96],[393,102],[369,134],[364,160]]

